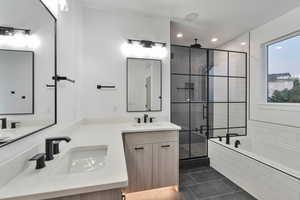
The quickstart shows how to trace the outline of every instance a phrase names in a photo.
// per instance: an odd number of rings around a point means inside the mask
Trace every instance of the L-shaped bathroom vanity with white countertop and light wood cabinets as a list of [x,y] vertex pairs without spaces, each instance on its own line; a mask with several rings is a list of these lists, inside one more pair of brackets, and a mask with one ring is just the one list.
[[28,159],[16,163],[18,158],[0,166],[24,166],[3,177],[14,178],[0,185],[1,200],[120,200],[121,192],[178,185],[180,127],[169,122],[80,122],[68,130],[59,135],[72,141],[45,168],[36,170]]

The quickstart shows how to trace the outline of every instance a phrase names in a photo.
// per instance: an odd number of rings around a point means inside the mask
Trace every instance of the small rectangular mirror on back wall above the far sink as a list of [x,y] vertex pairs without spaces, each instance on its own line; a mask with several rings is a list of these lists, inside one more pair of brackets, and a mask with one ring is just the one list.
[[127,112],[162,111],[162,61],[127,58]]

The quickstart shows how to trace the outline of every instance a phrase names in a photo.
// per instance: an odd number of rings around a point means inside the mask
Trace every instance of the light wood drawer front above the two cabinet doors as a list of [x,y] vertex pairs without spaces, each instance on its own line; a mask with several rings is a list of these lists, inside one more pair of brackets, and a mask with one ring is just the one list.
[[126,133],[125,141],[128,145],[155,144],[160,142],[177,142],[178,131]]

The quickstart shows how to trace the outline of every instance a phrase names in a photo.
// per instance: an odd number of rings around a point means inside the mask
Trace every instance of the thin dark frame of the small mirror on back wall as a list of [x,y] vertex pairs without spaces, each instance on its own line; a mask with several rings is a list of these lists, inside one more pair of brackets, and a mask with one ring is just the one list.
[[[150,60],[150,61],[158,61],[160,64],[160,109],[159,110],[129,110],[129,60]],[[126,110],[128,113],[145,113],[145,112],[162,112],[162,106],[163,106],[163,98],[162,98],[162,60],[160,59],[153,59],[153,58],[136,58],[136,57],[127,57],[126,59]]]

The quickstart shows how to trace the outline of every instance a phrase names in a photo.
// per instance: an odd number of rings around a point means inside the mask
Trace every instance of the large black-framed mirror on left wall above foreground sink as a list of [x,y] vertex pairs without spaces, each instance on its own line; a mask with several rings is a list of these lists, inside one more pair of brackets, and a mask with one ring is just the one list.
[[41,0],[0,2],[0,147],[57,123],[56,32]]

